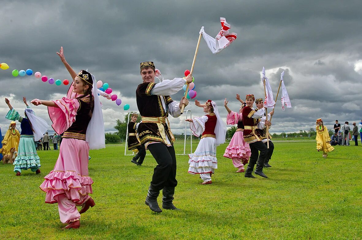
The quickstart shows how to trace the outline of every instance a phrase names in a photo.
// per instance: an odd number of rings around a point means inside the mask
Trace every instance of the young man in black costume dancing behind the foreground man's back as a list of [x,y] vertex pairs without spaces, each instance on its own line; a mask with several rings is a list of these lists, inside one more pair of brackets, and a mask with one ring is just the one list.
[[[136,123],[138,118],[137,113],[133,113],[131,116],[131,121],[128,123],[128,150],[130,151],[138,151],[136,156],[134,156],[131,160],[136,165],[141,166],[144,160],[144,157],[146,157],[146,148],[143,144],[141,144],[137,138],[137,128],[138,124]],[[138,160],[139,159],[139,160]],[[138,160],[138,162],[137,162]]]

